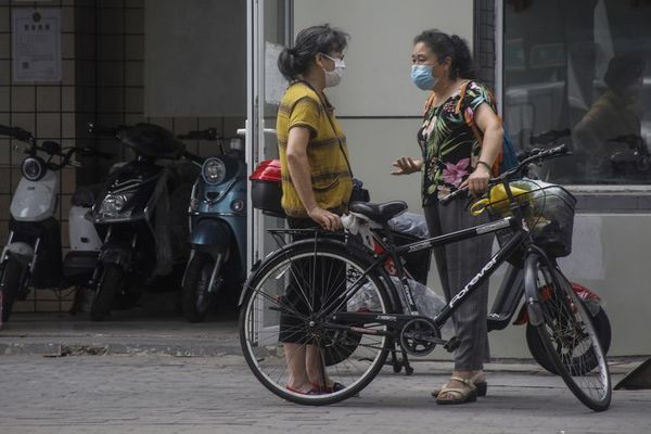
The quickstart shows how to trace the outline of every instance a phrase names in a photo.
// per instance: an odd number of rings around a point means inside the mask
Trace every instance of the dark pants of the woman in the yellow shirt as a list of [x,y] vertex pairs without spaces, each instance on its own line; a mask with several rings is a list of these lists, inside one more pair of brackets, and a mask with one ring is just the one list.
[[[311,229],[319,226],[309,218],[288,218],[291,229]],[[294,235],[294,241],[314,238],[312,232]],[[346,288],[346,268],[341,260],[306,256],[293,260],[289,284],[281,297],[279,341],[307,344],[306,318],[321,309]]]

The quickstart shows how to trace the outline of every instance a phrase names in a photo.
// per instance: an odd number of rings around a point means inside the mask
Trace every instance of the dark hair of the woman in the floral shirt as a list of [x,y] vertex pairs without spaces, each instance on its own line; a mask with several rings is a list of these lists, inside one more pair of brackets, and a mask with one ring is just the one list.
[[438,61],[452,60],[449,78],[474,78],[474,63],[468,43],[457,35],[449,36],[438,29],[423,30],[413,38],[413,44],[423,42]]

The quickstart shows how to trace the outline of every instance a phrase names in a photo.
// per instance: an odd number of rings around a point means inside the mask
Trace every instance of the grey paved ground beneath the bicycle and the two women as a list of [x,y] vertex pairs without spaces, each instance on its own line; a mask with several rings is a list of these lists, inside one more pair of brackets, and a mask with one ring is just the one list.
[[[430,397],[451,369],[434,359],[385,369],[359,398],[296,406],[253,378],[232,320],[16,315],[0,332],[0,433],[651,432],[651,391],[614,392],[595,413],[527,360],[489,363],[488,396],[464,406]],[[642,359],[611,360],[614,382]]]

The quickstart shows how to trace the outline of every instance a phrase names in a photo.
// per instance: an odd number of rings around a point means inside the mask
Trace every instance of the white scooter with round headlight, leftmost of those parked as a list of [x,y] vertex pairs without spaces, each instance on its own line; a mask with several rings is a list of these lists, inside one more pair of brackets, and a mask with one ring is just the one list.
[[[39,145],[34,136],[22,128],[0,126],[0,135],[27,144],[21,166],[23,177],[11,201],[9,239],[0,263],[2,321],[7,321],[14,302],[25,299],[30,288],[55,290],[88,285],[102,245],[93,225],[85,218],[97,188],[80,187],[73,195],[68,215],[71,251],[62,260],[61,226],[54,218],[60,193],[59,170],[80,166],[73,161],[75,155],[108,159],[113,155],[90,148],[62,149],[53,141]],[[47,159],[39,153],[47,154]]]

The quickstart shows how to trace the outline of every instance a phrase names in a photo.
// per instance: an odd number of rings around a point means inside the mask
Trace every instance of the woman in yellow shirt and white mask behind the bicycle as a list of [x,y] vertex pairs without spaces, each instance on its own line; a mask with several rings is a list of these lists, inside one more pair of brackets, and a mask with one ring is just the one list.
[[[327,24],[309,27],[301,30],[294,48],[283,50],[278,59],[280,72],[290,80],[278,111],[277,131],[282,206],[293,229],[341,229],[340,215],[347,210],[350,200],[353,178],[346,137],[323,93],[342,79],[347,38]],[[332,266],[321,261],[318,270],[332,272]],[[296,269],[292,276],[309,275]],[[317,306],[308,306],[298,280],[291,280],[283,303],[291,307],[288,312],[308,315]],[[309,285],[315,293],[327,290],[316,288],[318,276]],[[288,363],[288,391],[320,394],[343,387],[324,374],[321,350],[306,342],[305,332],[299,331],[303,320],[288,312],[281,314],[279,335]]]

